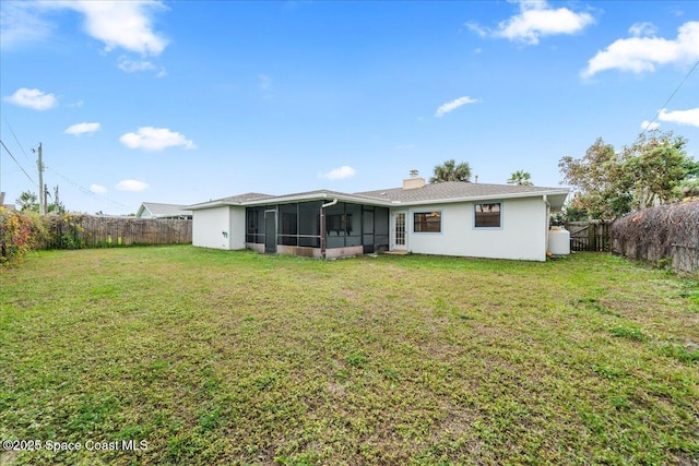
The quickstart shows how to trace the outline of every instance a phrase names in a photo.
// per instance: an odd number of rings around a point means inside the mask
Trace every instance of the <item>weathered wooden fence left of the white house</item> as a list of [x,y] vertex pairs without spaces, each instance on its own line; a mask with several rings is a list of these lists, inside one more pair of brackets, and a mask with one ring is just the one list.
[[192,242],[192,220],[61,215],[47,218],[45,249]]

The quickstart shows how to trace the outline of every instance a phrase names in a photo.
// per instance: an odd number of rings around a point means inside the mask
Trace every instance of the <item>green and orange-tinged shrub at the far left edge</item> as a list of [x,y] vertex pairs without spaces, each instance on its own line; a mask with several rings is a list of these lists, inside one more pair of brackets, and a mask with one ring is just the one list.
[[45,237],[38,214],[0,207],[0,265],[21,262],[27,252],[40,247]]

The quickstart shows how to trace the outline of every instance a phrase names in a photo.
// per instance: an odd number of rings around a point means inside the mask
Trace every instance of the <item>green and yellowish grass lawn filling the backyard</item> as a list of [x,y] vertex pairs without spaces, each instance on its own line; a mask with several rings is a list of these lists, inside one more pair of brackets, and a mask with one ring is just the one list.
[[699,283],[612,255],[48,251],[0,286],[0,438],[42,442],[0,464],[699,458]]

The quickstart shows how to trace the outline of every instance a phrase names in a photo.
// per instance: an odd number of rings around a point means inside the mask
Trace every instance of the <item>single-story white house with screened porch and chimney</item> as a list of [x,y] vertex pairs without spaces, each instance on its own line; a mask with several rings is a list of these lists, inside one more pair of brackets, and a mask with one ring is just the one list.
[[568,189],[411,178],[360,193],[247,193],[189,205],[192,243],[312,258],[382,251],[545,261]]

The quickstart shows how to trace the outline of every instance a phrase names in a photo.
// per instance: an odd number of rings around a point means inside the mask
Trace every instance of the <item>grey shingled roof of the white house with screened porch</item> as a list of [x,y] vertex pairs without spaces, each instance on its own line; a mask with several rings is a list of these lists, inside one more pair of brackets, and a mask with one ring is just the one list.
[[270,203],[287,203],[315,200],[334,200],[371,205],[398,206],[419,205],[428,203],[464,202],[478,200],[498,200],[512,198],[550,196],[553,210],[562,206],[569,190],[565,188],[541,188],[513,184],[484,184],[463,181],[446,181],[425,184],[422,188],[403,189],[391,188],[384,190],[344,193],[330,190],[298,192],[284,195],[247,193],[223,198],[200,204],[189,205],[187,208],[198,211],[222,205],[264,205]]

